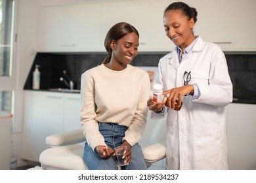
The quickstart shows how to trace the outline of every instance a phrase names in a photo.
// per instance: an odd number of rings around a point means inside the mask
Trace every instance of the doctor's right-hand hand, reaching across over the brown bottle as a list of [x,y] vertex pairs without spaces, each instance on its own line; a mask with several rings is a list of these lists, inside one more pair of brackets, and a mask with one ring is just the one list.
[[194,86],[188,84],[186,86],[181,86],[178,88],[173,88],[171,90],[166,90],[163,95],[169,95],[165,103],[166,107],[175,108],[175,103],[180,107],[182,96],[188,95],[189,93],[194,93]]

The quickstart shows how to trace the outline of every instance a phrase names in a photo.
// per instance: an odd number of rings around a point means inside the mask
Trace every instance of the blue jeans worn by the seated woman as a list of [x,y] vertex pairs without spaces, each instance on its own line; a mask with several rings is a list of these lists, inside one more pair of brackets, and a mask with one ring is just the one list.
[[[100,133],[108,147],[115,148],[120,146],[125,136],[126,126],[117,124],[98,123]],[[123,170],[146,170],[146,163],[140,145],[137,143],[131,147],[131,161],[129,165],[122,166]],[[116,159],[112,156],[109,159],[102,159],[94,150],[85,142],[83,159],[89,170],[117,170]]]

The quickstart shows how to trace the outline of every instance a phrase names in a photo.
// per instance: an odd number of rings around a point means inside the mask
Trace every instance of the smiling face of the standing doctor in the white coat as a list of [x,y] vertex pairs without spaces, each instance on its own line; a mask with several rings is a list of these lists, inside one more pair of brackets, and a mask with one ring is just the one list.
[[194,19],[188,20],[181,10],[169,10],[163,16],[165,34],[176,46],[184,50],[195,37],[193,34]]

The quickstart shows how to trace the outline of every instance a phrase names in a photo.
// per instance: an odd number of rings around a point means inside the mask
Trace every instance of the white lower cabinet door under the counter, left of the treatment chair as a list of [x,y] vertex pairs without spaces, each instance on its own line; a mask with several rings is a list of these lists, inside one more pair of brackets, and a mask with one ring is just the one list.
[[63,93],[24,92],[22,159],[39,161],[45,138],[63,131],[63,98]]

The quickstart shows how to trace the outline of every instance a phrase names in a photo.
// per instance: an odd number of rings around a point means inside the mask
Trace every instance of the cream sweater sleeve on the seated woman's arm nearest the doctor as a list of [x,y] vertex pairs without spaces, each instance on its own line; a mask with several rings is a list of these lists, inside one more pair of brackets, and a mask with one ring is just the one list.
[[139,142],[141,135],[146,127],[146,118],[148,114],[147,101],[150,98],[150,78],[148,73],[145,73],[142,77],[141,90],[139,94],[139,101],[135,115],[129,125],[127,131],[125,131],[125,137],[123,141],[129,142],[131,146]]

